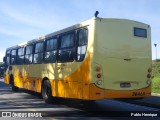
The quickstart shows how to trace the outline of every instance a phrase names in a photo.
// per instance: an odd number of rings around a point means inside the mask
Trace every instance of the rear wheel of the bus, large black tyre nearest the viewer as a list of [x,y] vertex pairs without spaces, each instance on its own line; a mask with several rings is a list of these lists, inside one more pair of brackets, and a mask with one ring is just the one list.
[[52,89],[49,80],[45,80],[42,84],[42,98],[46,103],[52,102]]

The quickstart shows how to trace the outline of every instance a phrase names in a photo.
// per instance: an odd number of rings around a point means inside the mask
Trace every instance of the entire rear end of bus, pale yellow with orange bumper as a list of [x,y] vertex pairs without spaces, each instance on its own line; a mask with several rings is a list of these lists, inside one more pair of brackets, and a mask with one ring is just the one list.
[[136,21],[96,20],[92,80],[99,97],[151,95],[150,33],[149,25]]

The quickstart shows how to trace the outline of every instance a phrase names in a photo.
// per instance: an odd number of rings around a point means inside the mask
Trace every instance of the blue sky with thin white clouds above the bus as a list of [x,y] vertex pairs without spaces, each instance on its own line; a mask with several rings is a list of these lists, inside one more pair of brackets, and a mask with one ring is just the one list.
[[[0,0],[0,62],[8,47],[99,17],[149,24],[160,58],[160,0]],[[154,44],[157,44],[155,47]]]

